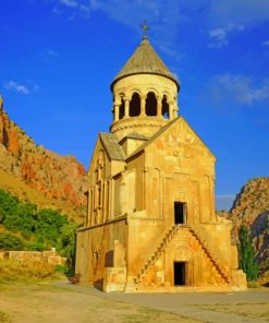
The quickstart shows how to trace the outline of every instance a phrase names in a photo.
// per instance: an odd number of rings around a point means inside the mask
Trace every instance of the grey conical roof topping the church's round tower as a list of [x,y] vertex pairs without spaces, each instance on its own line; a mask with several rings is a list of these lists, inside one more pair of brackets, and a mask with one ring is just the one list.
[[131,56],[129,61],[114,77],[110,86],[111,91],[113,89],[117,81],[134,74],[156,74],[166,76],[175,82],[178,88],[180,88],[179,81],[155,51],[147,37],[143,38],[135,52]]

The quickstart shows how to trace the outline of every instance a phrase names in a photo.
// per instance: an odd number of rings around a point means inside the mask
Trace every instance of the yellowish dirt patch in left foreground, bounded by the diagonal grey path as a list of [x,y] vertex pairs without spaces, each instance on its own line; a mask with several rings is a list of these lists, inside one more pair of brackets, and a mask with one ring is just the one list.
[[9,285],[0,289],[1,323],[195,323],[160,310],[100,298],[51,284]]

